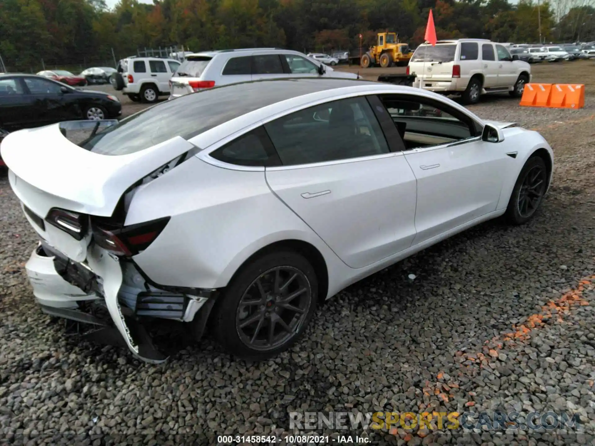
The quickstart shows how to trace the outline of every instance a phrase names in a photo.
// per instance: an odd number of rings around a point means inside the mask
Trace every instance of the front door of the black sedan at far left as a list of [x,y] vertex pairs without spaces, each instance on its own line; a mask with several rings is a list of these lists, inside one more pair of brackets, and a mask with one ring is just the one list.
[[73,118],[62,93],[62,84],[41,77],[24,77],[23,80],[32,96],[35,123],[44,125]]

